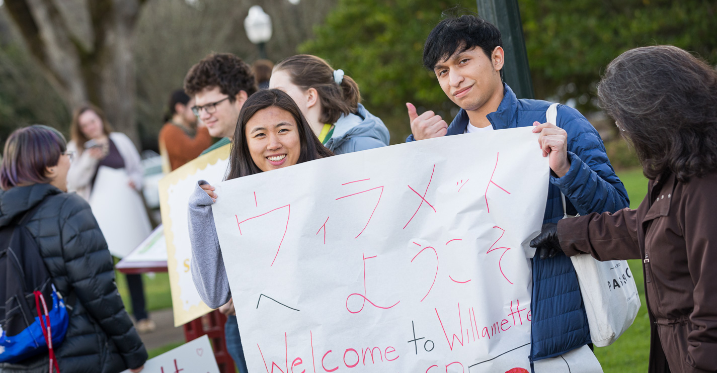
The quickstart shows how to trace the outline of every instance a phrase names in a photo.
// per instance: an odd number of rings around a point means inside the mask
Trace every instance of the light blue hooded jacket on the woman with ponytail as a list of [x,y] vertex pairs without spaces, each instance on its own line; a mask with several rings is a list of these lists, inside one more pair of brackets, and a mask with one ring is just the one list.
[[341,115],[334,126],[326,147],[336,155],[386,146],[391,138],[384,122],[361,104],[356,114]]

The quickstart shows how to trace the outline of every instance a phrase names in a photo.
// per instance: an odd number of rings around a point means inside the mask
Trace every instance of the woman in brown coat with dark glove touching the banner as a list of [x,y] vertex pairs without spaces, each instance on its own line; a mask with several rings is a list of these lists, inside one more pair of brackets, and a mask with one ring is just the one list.
[[531,246],[642,259],[649,372],[716,372],[717,71],[677,47],[631,49],[598,95],[640,158],[645,200],[544,226]]

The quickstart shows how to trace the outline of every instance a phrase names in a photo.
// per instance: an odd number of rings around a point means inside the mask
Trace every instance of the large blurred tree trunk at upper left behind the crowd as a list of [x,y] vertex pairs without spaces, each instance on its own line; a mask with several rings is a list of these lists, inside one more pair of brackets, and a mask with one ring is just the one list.
[[133,29],[144,0],[6,0],[6,10],[49,82],[77,107],[101,107],[139,144]]

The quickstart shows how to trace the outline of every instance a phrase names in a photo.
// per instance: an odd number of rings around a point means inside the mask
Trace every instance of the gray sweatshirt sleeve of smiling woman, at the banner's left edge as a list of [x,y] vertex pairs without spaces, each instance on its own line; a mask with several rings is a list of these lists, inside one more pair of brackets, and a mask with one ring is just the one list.
[[232,298],[227,270],[219,248],[217,228],[212,214],[212,198],[196,183],[189,197],[189,242],[191,243],[191,279],[207,306],[218,309]]

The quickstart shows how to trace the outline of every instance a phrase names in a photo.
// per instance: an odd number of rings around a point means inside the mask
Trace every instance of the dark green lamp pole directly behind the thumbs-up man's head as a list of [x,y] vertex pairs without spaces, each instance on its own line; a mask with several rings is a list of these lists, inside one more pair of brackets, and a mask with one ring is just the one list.
[[518,98],[535,98],[518,0],[478,0],[478,15],[500,30],[505,51],[505,83]]

